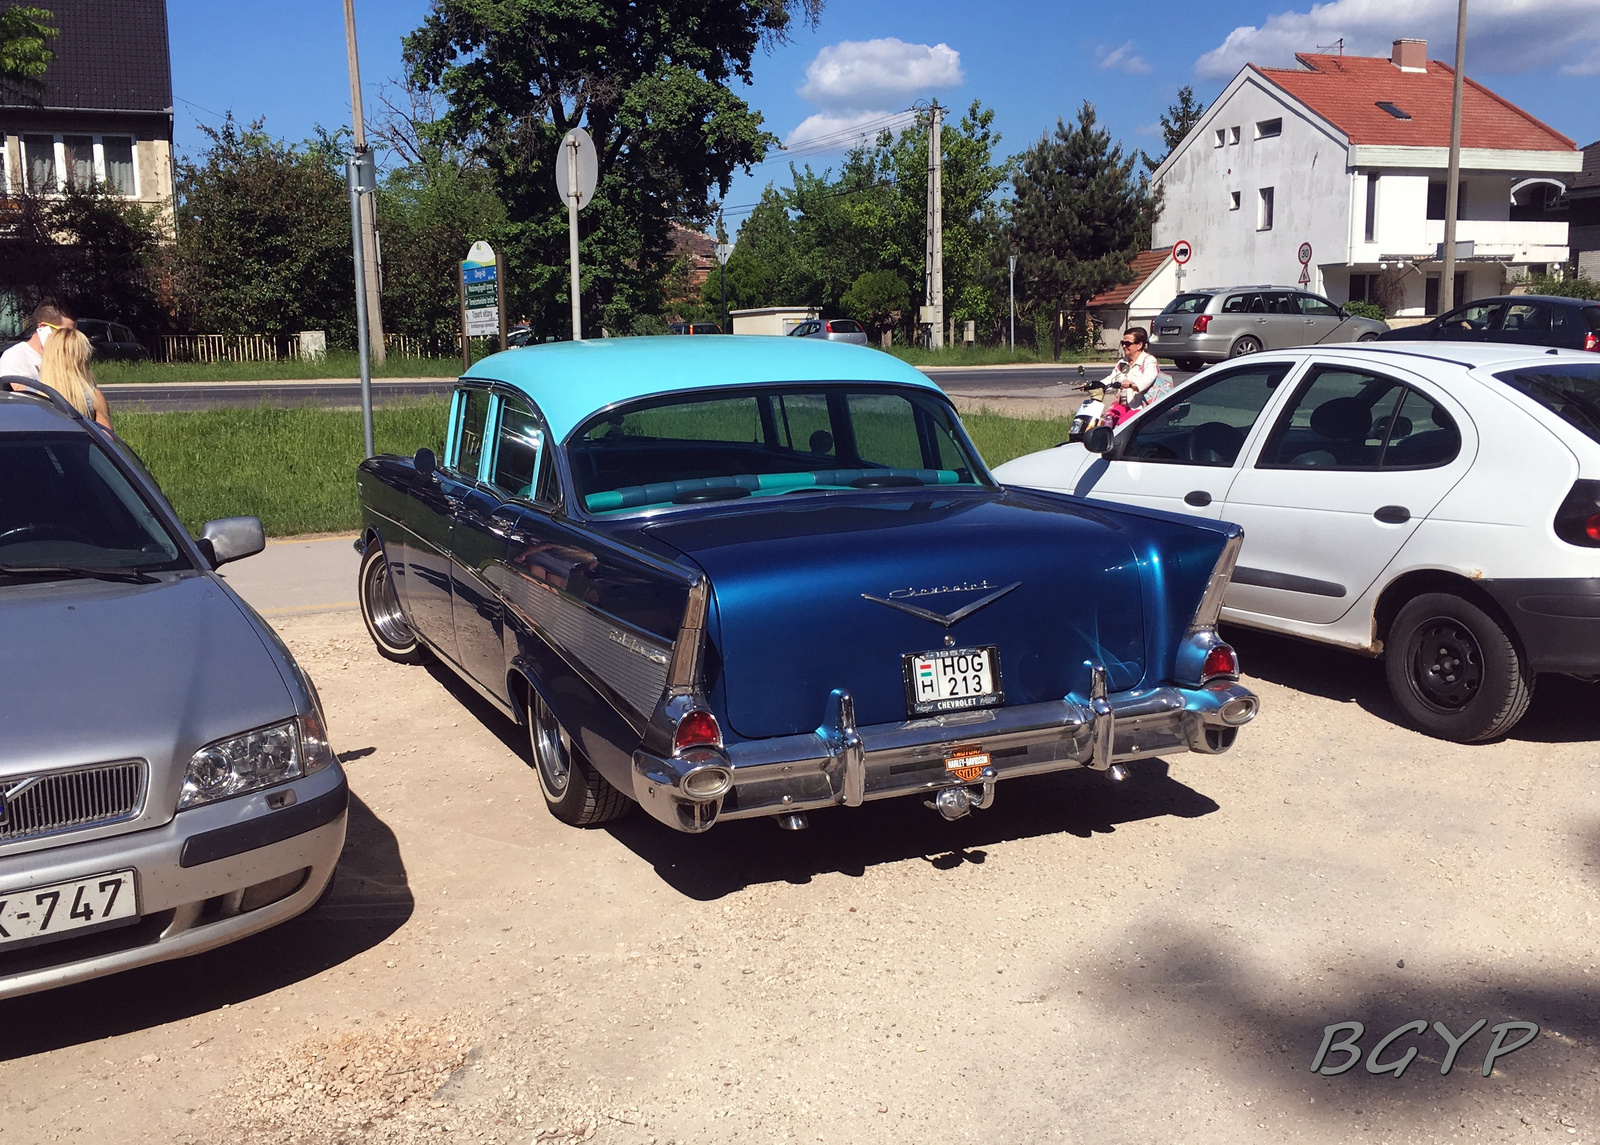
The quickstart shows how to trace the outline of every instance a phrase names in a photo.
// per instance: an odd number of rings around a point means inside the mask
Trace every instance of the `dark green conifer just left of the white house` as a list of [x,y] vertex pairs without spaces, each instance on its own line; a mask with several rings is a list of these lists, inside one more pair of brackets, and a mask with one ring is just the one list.
[[[1150,241],[1150,193],[1085,102],[1070,128],[1027,149],[1013,176],[1011,232],[1018,285],[1032,305],[1080,315],[1090,297],[1128,281],[1133,256]],[[1074,323],[1082,341],[1086,329]],[[1053,353],[1061,355],[1058,323]]]

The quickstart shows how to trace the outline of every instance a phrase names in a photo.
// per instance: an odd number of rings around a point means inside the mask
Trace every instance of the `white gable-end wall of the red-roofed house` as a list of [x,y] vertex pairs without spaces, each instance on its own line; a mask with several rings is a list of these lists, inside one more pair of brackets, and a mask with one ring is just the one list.
[[[1256,139],[1256,123],[1272,118],[1283,120],[1282,134]],[[1214,146],[1218,130],[1226,133],[1221,147]],[[1346,154],[1342,136],[1328,123],[1246,69],[1157,173],[1166,201],[1154,245],[1194,243],[1184,277],[1192,288],[1293,285],[1301,272],[1299,245],[1309,241],[1309,286],[1322,291],[1322,265],[1344,265],[1349,257]],[[1256,225],[1262,187],[1274,189],[1270,230]],[[1237,209],[1230,192],[1238,192]]]

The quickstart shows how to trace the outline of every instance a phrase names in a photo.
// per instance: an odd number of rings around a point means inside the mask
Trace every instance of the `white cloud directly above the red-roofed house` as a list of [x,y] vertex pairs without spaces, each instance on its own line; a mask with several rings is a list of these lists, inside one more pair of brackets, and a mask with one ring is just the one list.
[[[1293,66],[1294,53],[1326,50],[1341,37],[1352,56],[1387,56],[1394,40],[1426,38],[1432,59],[1450,61],[1456,50],[1456,0],[1328,0],[1310,11],[1278,13],[1259,27],[1235,27],[1195,61],[1195,74],[1226,80],[1245,64]],[[1570,61],[1563,74],[1594,75],[1600,74],[1595,45],[1595,0],[1493,0],[1467,10],[1469,75],[1528,72],[1562,61]]]

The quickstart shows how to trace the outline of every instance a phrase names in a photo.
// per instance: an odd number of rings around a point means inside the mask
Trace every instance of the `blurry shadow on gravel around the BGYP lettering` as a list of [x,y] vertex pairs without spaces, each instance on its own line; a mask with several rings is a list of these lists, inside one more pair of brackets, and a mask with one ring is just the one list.
[[[1139,958],[1138,964],[1083,966],[1077,975],[1077,967],[1059,966],[1045,999],[1075,990],[1118,1022],[1136,1015],[1146,1038],[1187,1047],[1203,1060],[1206,1073],[1251,1092],[1261,1118],[1293,1118],[1277,1123],[1280,1139],[1315,1131],[1318,1139],[1331,1140],[1440,1140],[1472,1131],[1488,1140],[1510,1140],[1510,1129],[1518,1139],[1531,1129],[1554,1129],[1568,1140],[1563,1127],[1573,1121],[1563,1118],[1594,1115],[1594,1091],[1586,1078],[1600,1067],[1600,1019],[1594,977],[1578,966],[1582,958],[1562,964],[1534,955],[1520,966],[1478,964],[1462,972],[1432,967],[1422,952],[1416,958],[1352,963],[1349,952],[1330,948],[1310,974],[1278,977],[1254,963],[1246,934],[1227,942],[1194,928],[1160,924],[1130,934],[1136,948],[1165,953]],[[1394,1065],[1414,1047],[1405,1073],[1395,1078],[1370,1070],[1378,1043],[1418,1020],[1426,1022],[1426,1030],[1403,1031],[1379,1055],[1379,1063]],[[1434,1023],[1461,1038],[1480,1020],[1483,1025],[1456,1054],[1450,1073],[1442,1075],[1450,1047]],[[1325,1038],[1331,1043],[1354,1033],[1326,1033],[1341,1022],[1362,1023],[1355,1043],[1360,1059],[1330,1047],[1320,1062],[1330,1073],[1312,1073]],[[1507,1022],[1534,1023],[1539,1035],[1491,1059],[1493,1076],[1483,1076],[1496,1043],[1494,1027]],[[1501,1047],[1525,1033],[1504,1031]],[[1347,1060],[1350,1068],[1339,1071]]]

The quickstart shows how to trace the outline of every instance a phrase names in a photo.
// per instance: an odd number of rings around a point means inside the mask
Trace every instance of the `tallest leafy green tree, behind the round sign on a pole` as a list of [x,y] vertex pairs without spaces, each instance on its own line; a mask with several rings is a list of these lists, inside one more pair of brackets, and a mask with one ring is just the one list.
[[434,0],[405,38],[413,80],[443,94],[443,138],[493,173],[506,205],[514,305],[568,333],[560,139],[582,126],[598,187],[581,216],[584,325],[624,329],[661,305],[670,224],[704,224],[712,192],[774,138],[733,93],[763,42],[821,0]]

